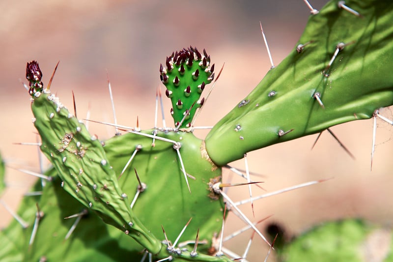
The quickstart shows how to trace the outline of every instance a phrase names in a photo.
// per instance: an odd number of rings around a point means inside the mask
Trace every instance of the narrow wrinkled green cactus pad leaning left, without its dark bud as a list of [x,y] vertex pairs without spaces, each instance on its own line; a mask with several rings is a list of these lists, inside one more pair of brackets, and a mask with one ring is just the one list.
[[73,117],[56,96],[41,93],[31,104],[34,126],[41,135],[41,150],[64,181],[64,189],[102,219],[158,253],[161,244],[148,233],[128,208],[117,177],[101,143]]

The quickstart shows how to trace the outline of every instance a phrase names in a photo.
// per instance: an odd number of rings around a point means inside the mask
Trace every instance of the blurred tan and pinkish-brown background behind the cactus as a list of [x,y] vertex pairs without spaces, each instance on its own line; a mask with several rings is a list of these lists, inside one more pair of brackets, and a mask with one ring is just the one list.
[[[312,0],[319,9],[324,0]],[[13,145],[35,142],[29,97],[22,86],[26,62],[38,60],[44,84],[60,60],[52,90],[72,109],[74,91],[77,113],[91,119],[112,121],[108,70],[118,122],[140,127],[153,126],[159,65],[172,51],[190,44],[206,48],[216,71],[225,68],[197,125],[213,125],[241,101],[269,70],[259,21],[269,41],[274,62],[295,47],[309,16],[302,0],[200,0],[200,1],[113,1],[113,0],[3,0],[0,1],[0,152],[9,167],[39,172],[37,148]],[[169,101],[167,122],[171,123]],[[289,105],[288,105],[289,106]],[[392,111],[385,110],[392,118]],[[90,123],[100,139],[113,135],[111,128]],[[268,192],[309,180],[331,178],[319,185],[257,201],[255,219],[272,215],[268,222],[281,223],[296,234],[327,219],[365,217],[391,226],[393,181],[391,156],[393,129],[378,122],[373,170],[370,172],[372,121],[347,123],[332,130],[356,156],[352,160],[328,133],[311,151],[316,135],[270,146],[248,154],[250,169],[262,178]],[[203,137],[206,132],[198,132]],[[233,163],[243,168],[243,161]],[[35,180],[11,168],[6,170],[9,187],[4,200],[14,210]],[[229,173],[225,172],[225,177]],[[236,181],[234,178],[233,181]],[[248,189],[231,189],[235,200]],[[265,193],[254,187],[253,195]],[[251,207],[245,212],[252,216]],[[11,216],[0,206],[0,227]],[[264,229],[265,224],[259,228]],[[225,234],[243,227],[229,217]],[[243,253],[250,232],[226,247]],[[251,254],[262,257],[266,244],[254,239]],[[272,257],[273,259],[273,257]],[[262,260],[260,260],[262,261]]]

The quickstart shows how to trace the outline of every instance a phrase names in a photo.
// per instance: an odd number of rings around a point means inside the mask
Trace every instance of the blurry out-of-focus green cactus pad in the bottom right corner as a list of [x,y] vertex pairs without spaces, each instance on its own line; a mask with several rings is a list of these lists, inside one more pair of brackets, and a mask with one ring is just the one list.
[[278,253],[282,262],[389,262],[393,259],[391,239],[391,229],[346,219],[323,223],[296,237]]

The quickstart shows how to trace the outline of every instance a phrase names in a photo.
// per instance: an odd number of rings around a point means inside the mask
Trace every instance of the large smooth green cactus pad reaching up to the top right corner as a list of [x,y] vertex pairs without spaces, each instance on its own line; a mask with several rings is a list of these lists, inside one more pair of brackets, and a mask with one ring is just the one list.
[[[214,126],[206,137],[214,163],[223,166],[264,146],[370,118],[376,109],[393,104],[393,3],[345,4],[363,17],[330,1],[310,16],[298,43],[308,43],[302,52],[294,49]],[[340,42],[347,45],[328,68]],[[314,98],[316,92],[324,108]]]

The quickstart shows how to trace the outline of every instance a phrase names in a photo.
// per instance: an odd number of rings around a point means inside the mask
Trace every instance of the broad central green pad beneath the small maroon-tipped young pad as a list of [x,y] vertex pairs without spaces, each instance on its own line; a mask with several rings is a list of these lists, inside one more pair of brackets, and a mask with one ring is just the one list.
[[[152,134],[153,131],[142,132]],[[213,234],[219,233],[221,229],[224,205],[216,195],[212,195],[208,186],[211,178],[221,177],[221,169],[202,156],[203,142],[192,133],[159,131],[156,135],[181,142],[179,151],[185,170],[195,177],[195,180],[188,178],[191,194],[173,144],[156,139],[152,147],[151,138],[133,133],[113,137],[104,146],[116,174],[121,173],[135,148],[141,148],[119,178],[120,186],[127,192],[128,198],[134,197],[138,187],[135,168],[140,181],[146,184],[145,191],[140,193],[133,207],[139,220],[159,239],[164,239],[162,225],[168,239],[173,242],[192,217],[180,241],[194,240],[199,228],[199,239],[208,240],[209,244],[198,245],[198,259],[215,261],[217,258],[213,257],[202,259],[202,254],[208,253]],[[222,260],[226,261],[227,258]]]

